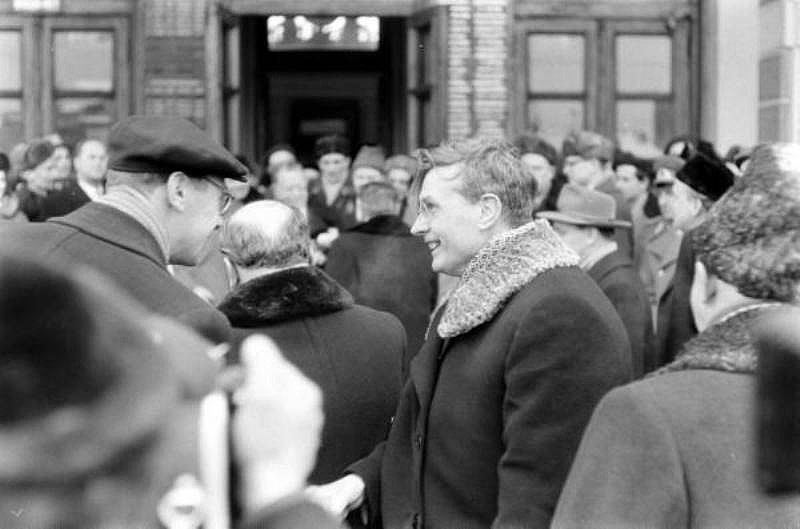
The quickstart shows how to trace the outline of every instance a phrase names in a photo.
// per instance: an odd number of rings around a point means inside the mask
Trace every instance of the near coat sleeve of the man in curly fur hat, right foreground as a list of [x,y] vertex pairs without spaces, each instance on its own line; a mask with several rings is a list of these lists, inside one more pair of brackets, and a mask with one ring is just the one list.
[[553,529],[687,526],[684,476],[669,422],[635,387],[612,391],[597,407]]

